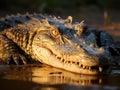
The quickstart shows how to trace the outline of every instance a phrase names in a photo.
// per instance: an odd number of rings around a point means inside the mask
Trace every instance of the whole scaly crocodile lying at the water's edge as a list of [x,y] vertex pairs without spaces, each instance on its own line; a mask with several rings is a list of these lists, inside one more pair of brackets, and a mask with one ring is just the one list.
[[78,74],[106,74],[120,55],[103,30],[46,14],[17,14],[0,20],[0,63],[37,61]]

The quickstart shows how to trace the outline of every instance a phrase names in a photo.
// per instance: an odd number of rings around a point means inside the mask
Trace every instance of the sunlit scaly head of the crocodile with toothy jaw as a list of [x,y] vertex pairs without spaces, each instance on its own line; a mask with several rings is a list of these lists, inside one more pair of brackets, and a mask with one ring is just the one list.
[[96,36],[81,24],[72,29],[41,27],[34,36],[32,52],[42,63],[80,74],[108,73],[111,64],[109,51],[99,47]]

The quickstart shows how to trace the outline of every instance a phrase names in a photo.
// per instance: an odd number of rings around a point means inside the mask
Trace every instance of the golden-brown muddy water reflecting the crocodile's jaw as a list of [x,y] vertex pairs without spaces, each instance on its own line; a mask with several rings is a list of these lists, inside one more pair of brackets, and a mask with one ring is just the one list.
[[120,67],[110,75],[79,75],[46,65],[0,66],[0,90],[120,90]]

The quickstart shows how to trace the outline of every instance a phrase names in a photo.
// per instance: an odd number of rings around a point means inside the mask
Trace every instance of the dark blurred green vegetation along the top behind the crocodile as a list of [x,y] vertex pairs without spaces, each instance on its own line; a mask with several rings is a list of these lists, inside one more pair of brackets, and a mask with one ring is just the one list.
[[63,12],[81,7],[120,9],[120,0],[0,0],[0,9],[9,11]]

